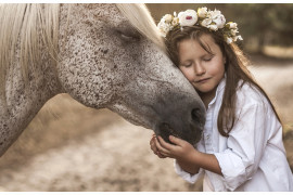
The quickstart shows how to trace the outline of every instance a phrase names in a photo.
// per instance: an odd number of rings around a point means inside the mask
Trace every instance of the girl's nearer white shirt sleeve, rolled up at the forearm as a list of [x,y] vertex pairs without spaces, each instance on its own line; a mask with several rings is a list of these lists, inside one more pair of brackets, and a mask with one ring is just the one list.
[[224,183],[230,191],[252,179],[258,169],[269,134],[266,123],[270,117],[264,102],[243,106],[240,110],[229,133],[227,150],[214,154],[221,168]]

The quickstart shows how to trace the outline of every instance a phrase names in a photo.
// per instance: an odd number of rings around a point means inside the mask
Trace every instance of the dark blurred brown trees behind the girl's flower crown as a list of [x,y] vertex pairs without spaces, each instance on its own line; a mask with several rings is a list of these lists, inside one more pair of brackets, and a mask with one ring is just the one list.
[[247,51],[262,53],[265,46],[293,46],[293,3],[151,3],[156,22],[166,13],[207,6],[218,9],[227,22],[235,22]]

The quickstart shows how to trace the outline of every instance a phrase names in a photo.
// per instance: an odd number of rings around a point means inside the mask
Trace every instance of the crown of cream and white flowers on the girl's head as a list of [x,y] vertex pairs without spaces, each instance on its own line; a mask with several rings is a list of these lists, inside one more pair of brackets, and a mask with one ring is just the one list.
[[209,30],[217,31],[220,30],[224,34],[224,38],[228,44],[235,42],[238,39],[243,40],[240,35],[237,35],[238,27],[237,23],[226,23],[225,16],[218,10],[207,10],[207,8],[199,8],[198,12],[194,10],[187,10],[180,12],[177,16],[176,12],[174,15],[164,15],[157,27],[163,37],[166,37],[168,31],[175,29],[176,27],[193,26],[199,25],[208,28]]

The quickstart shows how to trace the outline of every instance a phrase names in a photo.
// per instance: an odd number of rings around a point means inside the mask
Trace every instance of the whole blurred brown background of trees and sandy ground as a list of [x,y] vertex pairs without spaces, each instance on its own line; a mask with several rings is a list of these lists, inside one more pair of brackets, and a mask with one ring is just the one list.
[[[166,13],[207,6],[239,25],[250,69],[283,121],[293,169],[293,4],[146,4]],[[176,176],[171,159],[151,152],[152,131],[67,94],[50,100],[0,158],[0,191],[202,191]]]

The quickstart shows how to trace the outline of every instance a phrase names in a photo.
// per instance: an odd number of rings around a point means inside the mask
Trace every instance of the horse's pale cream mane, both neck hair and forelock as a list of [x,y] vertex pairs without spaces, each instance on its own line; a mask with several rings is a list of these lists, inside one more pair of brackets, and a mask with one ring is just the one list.
[[[144,4],[117,4],[117,8],[135,28],[165,49],[158,29]],[[60,4],[55,3],[0,5],[0,99],[5,99],[7,73],[15,62],[16,50],[20,49],[20,64],[25,81],[28,79],[28,66],[34,68],[34,65],[41,61],[42,46],[48,48],[53,58],[58,58],[59,15]],[[20,48],[16,48],[17,44]]]

